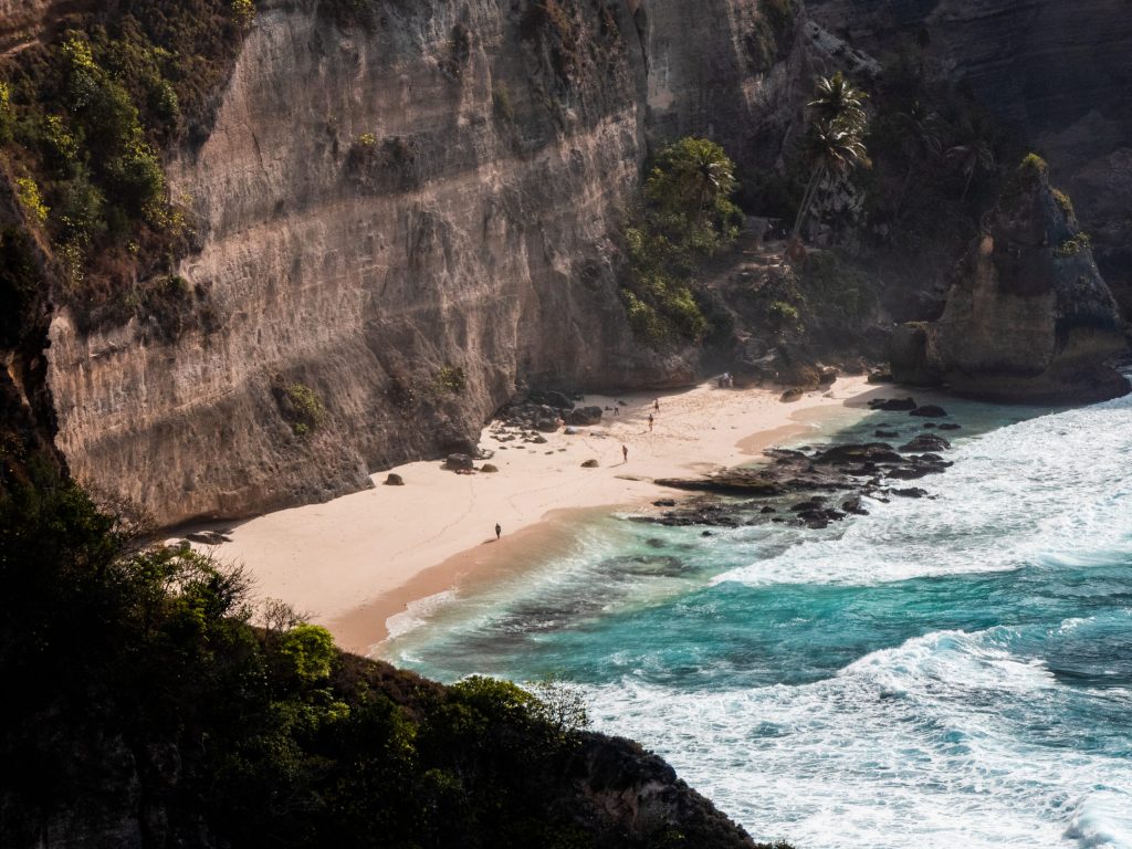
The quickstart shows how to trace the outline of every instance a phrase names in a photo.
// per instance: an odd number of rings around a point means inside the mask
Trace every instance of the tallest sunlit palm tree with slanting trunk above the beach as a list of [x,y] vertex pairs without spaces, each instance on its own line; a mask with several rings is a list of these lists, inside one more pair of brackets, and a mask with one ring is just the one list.
[[809,180],[794,222],[791,243],[798,241],[817,191],[829,179],[840,180],[856,168],[872,166],[863,140],[868,127],[864,108],[867,97],[840,71],[817,80],[815,97],[807,104],[813,114],[805,144]]

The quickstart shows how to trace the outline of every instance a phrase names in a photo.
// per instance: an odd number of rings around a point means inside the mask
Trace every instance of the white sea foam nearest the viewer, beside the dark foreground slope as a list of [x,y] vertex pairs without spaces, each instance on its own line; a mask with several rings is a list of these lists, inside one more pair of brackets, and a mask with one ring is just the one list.
[[1010,637],[938,632],[799,687],[677,694],[626,680],[593,688],[593,713],[761,838],[1130,849],[1132,764],[1027,740],[1065,692],[1001,648]]

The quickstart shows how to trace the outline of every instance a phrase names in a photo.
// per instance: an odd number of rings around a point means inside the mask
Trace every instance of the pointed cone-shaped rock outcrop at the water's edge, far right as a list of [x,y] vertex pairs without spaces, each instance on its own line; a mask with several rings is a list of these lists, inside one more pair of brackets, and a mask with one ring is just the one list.
[[1129,391],[1105,366],[1125,344],[1088,237],[1031,156],[985,216],[942,318],[895,335],[892,374],[1001,401],[1097,401]]

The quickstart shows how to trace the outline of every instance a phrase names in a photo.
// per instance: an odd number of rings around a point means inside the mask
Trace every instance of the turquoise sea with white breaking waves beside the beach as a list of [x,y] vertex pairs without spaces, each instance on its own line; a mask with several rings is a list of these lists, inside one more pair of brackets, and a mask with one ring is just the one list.
[[[568,556],[420,606],[384,654],[577,681],[598,730],[757,838],[1132,849],[1132,400],[946,406],[964,429],[917,482],[933,499],[816,532],[585,522]],[[811,440],[881,422],[921,424]]]

